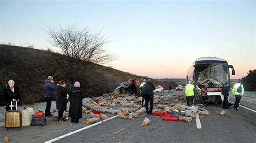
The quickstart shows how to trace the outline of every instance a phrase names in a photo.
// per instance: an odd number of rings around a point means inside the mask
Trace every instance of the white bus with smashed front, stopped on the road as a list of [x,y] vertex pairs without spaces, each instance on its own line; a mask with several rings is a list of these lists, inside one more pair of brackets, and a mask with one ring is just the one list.
[[216,57],[203,57],[196,59],[187,70],[188,80],[196,87],[194,100],[201,102],[217,102],[221,104],[223,95],[221,90],[225,83],[230,83],[230,71],[235,75],[232,65],[228,65],[225,59]]

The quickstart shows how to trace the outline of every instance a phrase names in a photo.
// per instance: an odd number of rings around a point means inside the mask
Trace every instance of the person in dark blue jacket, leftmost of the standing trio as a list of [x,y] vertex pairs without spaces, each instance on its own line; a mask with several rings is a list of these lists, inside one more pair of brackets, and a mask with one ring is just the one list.
[[55,89],[56,84],[53,81],[52,76],[48,76],[47,80],[44,81],[44,98],[46,101],[46,108],[45,108],[45,117],[51,117],[51,101],[53,97],[53,92]]

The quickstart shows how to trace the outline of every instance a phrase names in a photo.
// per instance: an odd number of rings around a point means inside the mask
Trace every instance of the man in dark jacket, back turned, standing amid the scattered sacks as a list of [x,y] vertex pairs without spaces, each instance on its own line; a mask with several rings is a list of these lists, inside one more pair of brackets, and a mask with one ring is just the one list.
[[[147,80],[147,83],[140,87],[142,90],[142,96],[145,96],[145,108],[147,115],[152,115],[153,103],[154,103],[154,90],[156,87],[151,83],[151,80]],[[149,102],[150,102],[150,110],[149,110]]]

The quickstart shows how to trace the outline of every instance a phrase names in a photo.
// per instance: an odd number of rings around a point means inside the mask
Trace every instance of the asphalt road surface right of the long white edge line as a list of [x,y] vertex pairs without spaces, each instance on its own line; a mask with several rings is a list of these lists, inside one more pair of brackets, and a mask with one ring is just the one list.
[[[176,94],[180,93],[182,91]],[[256,142],[255,113],[246,109],[225,109],[227,115],[220,116],[218,112],[223,111],[220,106],[210,104],[206,107],[211,115],[200,117],[201,129],[197,128],[194,119],[190,123],[164,121],[144,113],[133,120],[114,118],[60,142]],[[151,120],[151,124],[142,127],[140,124],[145,117]],[[123,128],[123,132],[113,135]]]

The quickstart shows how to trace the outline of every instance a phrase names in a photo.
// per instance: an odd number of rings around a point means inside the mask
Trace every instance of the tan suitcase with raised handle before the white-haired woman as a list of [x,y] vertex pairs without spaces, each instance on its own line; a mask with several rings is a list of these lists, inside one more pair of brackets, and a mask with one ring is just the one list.
[[12,110],[12,101],[11,101],[11,110],[7,111],[5,113],[5,128],[8,130],[8,128],[15,128],[18,127],[19,130],[21,130],[22,126],[22,114],[17,110],[17,101],[16,101],[16,110]]

